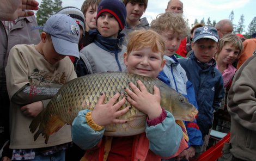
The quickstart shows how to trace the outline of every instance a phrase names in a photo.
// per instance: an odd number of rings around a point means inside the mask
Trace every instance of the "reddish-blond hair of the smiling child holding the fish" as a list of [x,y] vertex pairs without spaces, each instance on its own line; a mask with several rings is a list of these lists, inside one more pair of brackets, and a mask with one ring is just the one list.
[[156,33],[154,30],[134,30],[129,35],[129,41],[127,44],[127,54],[141,47],[151,47],[153,52],[161,53],[163,58],[165,45],[162,36]]

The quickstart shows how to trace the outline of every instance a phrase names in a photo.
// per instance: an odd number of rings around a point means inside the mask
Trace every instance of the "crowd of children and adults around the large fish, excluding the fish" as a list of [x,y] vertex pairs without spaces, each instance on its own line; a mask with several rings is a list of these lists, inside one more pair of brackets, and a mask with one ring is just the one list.
[[[231,132],[239,131],[231,134],[232,159],[255,160],[255,145],[242,145],[246,149],[241,150],[237,140],[239,134],[247,135],[248,129],[252,135],[256,131],[252,85],[255,56],[235,75],[233,63],[240,57],[243,44],[237,35],[223,33],[223,29],[233,30],[229,21],[223,20],[216,27],[198,24],[192,28],[191,51],[186,57],[190,29],[182,17],[183,3],[170,0],[166,12],[151,24],[141,18],[147,7],[148,0],[86,0],[81,10],[65,7],[43,27],[33,26],[32,32],[38,37],[37,29],[42,29],[38,44],[15,41],[15,46],[0,46],[5,53],[1,57],[0,87],[7,89],[1,90],[1,97],[5,109],[10,107],[10,112],[4,111],[10,113],[10,134],[5,133],[10,136],[5,147],[10,153],[3,153],[4,160],[189,160],[206,150],[214,113],[220,107],[231,114]],[[11,32],[10,28],[0,29],[7,35]],[[26,34],[30,38],[31,34]],[[192,122],[175,120],[161,107],[159,89],[155,86],[150,94],[137,80],[138,86],[127,84],[126,97],[117,93],[104,104],[102,93],[92,111],[81,110],[72,125],[53,134],[48,144],[43,136],[34,141],[29,124],[63,84],[84,75],[114,71],[160,79],[184,95],[198,109],[198,115]],[[237,84],[232,84],[233,79]],[[249,103],[245,102],[247,93]],[[118,101],[119,97],[123,98]],[[119,110],[126,101],[147,115],[145,132],[128,137],[103,135],[110,123],[125,123],[118,117],[130,110]],[[248,139],[255,142],[253,137]]]

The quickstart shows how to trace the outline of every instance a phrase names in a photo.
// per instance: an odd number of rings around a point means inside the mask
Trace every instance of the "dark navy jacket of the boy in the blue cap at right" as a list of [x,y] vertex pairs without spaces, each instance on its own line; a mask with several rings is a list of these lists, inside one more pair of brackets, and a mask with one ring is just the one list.
[[220,108],[224,97],[223,78],[220,71],[215,67],[216,61],[214,59],[212,59],[212,65],[206,69],[202,69],[199,65],[194,52],[189,58],[179,59],[179,62],[196,92],[199,110],[197,123],[204,138],[212,127],[214,112]]

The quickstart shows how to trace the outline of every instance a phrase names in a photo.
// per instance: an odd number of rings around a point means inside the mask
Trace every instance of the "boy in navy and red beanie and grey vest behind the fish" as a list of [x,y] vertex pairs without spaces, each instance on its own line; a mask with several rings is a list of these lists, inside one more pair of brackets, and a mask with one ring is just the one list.
[[103,0],[96,16],[97,29],[89,30],[94,42],[80,51],[80,60],[75,64],[77,76],[107,71],[124,71],[123,45],[126,18],[125,5],[119,0]]

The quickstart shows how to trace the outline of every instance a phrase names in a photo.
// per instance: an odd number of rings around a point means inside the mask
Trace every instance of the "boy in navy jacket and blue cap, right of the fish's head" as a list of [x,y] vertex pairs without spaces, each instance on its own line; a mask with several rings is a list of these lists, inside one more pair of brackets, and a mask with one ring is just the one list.
[[216,69],[213,59],[217,51],[218,32],[216,28],[203,26],[196,29],[191,44],[193,52],[189,58],[181,58],[179,62],[193,84],[198,104],[197,123],[204,142],[205,136],[212,127],[213,114],[220,108],[224,97],[223,78]]

